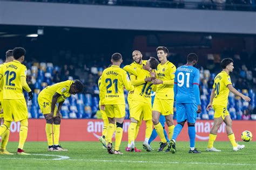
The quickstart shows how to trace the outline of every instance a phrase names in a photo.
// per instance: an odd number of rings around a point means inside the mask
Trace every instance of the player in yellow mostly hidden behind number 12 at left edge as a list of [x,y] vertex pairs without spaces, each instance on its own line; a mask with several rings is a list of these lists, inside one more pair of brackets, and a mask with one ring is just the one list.
[[[5,56],[6,56],[6,60],[5,62],[0,65],[0,68],[5,64],[5,63],[8,63],[8,62],[11,62],[14,60],[14,55],[12,55],[12,50],[8,50],[6,53],[5,53]],[[0,86],[0,102],[2,103],[3,101],[3,93],[2,93],[2,86]],[[0,103],[0,123],[1,125],[4,123],[4,112],[3,112],[3,107]],[[6,150],[6,145],[8,143],[8,140],[9,140],[9,135],[10,135],[10,129],[7,129],[5,131],[5,133],[2,135],[2,144],[1,144],[1,151],[0,151],[0,154],[13,154],[13,153],[10,153]]]

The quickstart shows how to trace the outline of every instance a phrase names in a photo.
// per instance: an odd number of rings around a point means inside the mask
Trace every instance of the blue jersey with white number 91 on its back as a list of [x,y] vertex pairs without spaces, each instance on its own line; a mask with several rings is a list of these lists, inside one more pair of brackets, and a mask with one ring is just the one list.
[[176,103],[201,104],[199,77],[199,70],[191,65],[177,68],[174,79],[174,98]]

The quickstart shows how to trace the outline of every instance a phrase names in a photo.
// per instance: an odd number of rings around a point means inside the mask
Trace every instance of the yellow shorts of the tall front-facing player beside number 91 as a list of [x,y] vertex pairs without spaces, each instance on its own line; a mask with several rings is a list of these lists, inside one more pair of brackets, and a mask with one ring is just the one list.
[[163,116],[173,115],[173,102],[171,99],[155,98],[152,110],[160,112]]

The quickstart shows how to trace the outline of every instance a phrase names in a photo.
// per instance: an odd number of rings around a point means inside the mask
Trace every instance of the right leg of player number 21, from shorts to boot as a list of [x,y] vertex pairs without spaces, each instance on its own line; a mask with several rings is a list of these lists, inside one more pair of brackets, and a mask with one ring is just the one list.
[[125,117],[125,105],[114,105],[114,117],[116,117],[116,143],[114,144],[114,154],[123,154],[119,151],[121,141],[123,138],[123,124],[124,124],[124,117]]

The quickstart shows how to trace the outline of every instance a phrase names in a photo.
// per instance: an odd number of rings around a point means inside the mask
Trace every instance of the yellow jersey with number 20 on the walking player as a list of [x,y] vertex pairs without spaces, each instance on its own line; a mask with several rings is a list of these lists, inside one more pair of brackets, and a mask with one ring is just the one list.
[[228,94],[230,93],[230,90],[227,88],[228,84],[232,84],[230,75],[224,71],[214,78],[213,88],[215,89],[215,96],[212,105],[227,106]]

